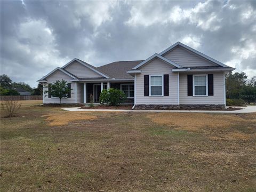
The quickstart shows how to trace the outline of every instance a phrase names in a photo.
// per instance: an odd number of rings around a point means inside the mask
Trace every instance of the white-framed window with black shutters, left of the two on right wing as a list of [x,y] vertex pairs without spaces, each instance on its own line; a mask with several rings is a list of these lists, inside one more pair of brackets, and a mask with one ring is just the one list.
[[164,95],[164,75],[149,75],[149,96],[162,97]]

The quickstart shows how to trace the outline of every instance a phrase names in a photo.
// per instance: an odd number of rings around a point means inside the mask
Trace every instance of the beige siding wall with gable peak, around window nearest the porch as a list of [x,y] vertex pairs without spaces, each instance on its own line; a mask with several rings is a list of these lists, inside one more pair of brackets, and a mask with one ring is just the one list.
[[[137,105],[177,105],[178,104],[178,75],[172,73],[173,67],[162,60],[154,59],[140,68],[141,74],[136,75],[136,104]],[[144,75],[169,74],[169,96],[144,96]],[[150,79],[149,79],[150,81]]]

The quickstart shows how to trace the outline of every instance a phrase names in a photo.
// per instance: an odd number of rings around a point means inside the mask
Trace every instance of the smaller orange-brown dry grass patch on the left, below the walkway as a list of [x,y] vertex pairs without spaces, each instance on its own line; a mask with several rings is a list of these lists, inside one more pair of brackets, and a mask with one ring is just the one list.
[[67,125],[69,122],[75,122],[78,120],[94,120],[97,117],[94,115],[89,115],[90,113],[86,112],[69,112],[69,113],[63,113],[63,114],[49,114],[44,115],[46,116],[46,121],[49,121],[47,123],[51,126],[61,126],[61,125]]

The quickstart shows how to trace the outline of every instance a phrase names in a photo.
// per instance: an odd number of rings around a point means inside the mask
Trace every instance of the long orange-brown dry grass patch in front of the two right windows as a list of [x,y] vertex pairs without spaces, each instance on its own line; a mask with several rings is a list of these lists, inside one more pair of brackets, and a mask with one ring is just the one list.
[[255,122],[255,119],[244,119],[234,115],[197,114],[197,113],[158,113],[148,117],[154,123],[174,126],[177,130],[198,131],[204,128],[224,128],[237,122]]

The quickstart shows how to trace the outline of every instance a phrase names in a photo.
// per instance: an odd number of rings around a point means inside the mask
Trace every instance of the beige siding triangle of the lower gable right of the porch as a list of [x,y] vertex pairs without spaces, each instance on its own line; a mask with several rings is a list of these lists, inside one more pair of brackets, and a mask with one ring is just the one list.
[[147,65],[141,66],[140,70],[142,73],[163,73],[163,71],[168,73],[168,71],[171,71],[173,68],[175,67],[167,64],[159,58],[155,58],[149,61]]

